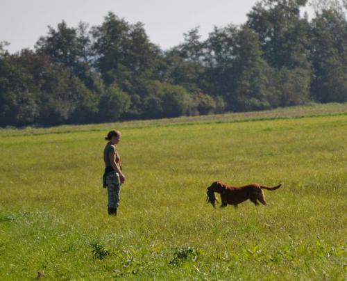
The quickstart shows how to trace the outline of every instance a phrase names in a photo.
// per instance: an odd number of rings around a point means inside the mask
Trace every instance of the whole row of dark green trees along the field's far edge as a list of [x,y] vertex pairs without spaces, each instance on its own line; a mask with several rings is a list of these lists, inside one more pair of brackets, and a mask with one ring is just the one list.
[[[322,1],[316,2],[321,3]],[[35,49],[0,43],[0,126],[52,126],[347,102],[347,2],[262,0],[246,23],[167,51],[140,22],[62,21]]]

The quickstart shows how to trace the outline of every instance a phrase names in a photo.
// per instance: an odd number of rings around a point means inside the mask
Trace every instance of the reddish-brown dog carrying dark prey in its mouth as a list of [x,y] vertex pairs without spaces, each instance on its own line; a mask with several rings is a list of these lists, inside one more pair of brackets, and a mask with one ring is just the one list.
[[208,203],[211,203],[214,207],[214,202],[217,201],[214,193],[217,192],[221,195],[221,207],[226,207],[228,204],[237,207],[237,204],[242,203],[246,200],[251,200],[255,205],[260,203],[266,205],[265,195],[262,189],[267,189],[269,191],[274,191],[280,188],[281,184],[278,186],[268,187],[261,186],[260,184],[248,184],[246,186],[229,186],[223,182],[213,182],[211,186],[208,187]]

